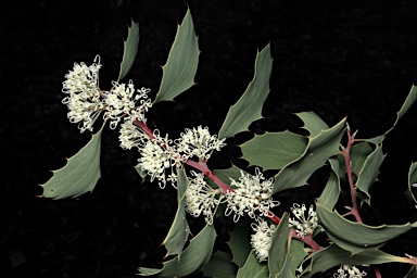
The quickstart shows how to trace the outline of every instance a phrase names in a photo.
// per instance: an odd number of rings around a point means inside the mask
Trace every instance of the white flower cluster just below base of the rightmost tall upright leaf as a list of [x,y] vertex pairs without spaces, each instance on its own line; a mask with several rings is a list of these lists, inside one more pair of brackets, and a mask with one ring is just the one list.
[[208,127],[186,128],[181,132],[181,138],[177,140],[178,151],[188,157],[197,156],[199,161],[208,160],[213,150],[219,151],[225,147],[226,139],[218,140],[217,136],[208,132]]

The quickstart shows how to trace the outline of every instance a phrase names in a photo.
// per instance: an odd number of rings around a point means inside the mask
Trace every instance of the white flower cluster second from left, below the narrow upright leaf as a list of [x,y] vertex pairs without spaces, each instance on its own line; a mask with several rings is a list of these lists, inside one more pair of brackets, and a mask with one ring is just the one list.
[[[139,92],[135,94],[135,92]],[[152,106],[151,100],[148,99],[150,89],[141,88],[135,90],[135,85],[130,80],[129,84],[113,83],[113,89],[105,94],[104,102],[106,112],[104,118],[110,118],[110,127],[116,128],[123,118],[134,122],[135,119],[146,122],[144,112]],[[140,101],[139,101],[140,100]],[[139,101],[140,105],[137,105]]]

